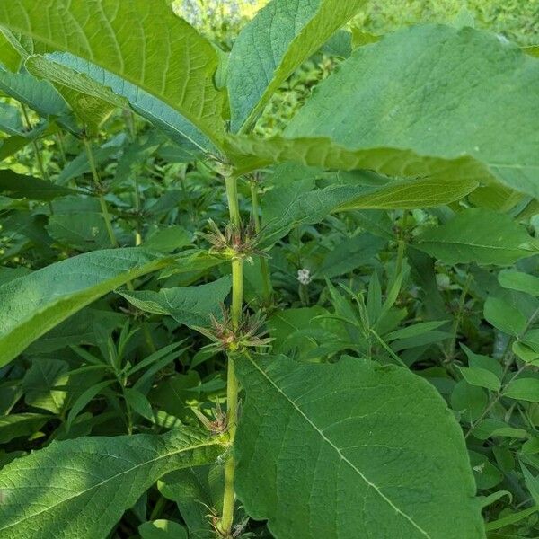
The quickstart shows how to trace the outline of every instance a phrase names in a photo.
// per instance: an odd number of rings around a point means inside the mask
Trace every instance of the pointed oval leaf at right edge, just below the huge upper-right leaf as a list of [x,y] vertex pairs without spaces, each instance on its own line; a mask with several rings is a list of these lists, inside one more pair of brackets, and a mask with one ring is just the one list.
[[415,247],[447,264],[477,262],[508,266],[539,252],[534,238],[510,216],[468,208],[445,225],[420,234]]

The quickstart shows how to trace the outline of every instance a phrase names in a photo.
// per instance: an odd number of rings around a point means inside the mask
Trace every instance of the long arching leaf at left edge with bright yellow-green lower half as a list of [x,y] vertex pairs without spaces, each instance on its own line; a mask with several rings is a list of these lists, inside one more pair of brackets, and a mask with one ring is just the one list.
[[0,287],[0,366],[85,305],[168,261],[139,248],[94,251]]

